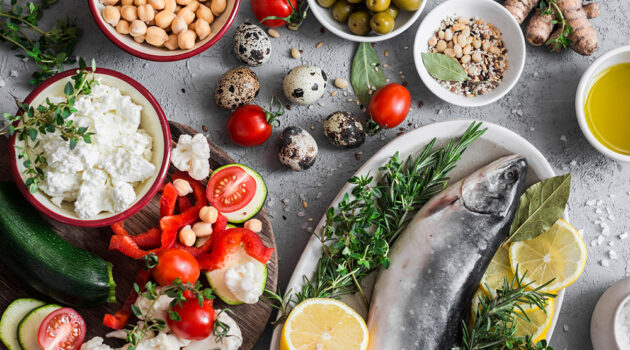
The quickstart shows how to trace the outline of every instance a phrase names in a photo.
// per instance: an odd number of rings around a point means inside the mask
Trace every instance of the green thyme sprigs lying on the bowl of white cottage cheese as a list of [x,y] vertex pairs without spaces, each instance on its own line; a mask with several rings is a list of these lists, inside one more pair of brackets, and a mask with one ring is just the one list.
[[69,142],[70,149],[74,149],[79,140],[85,143],[92,142],[91,135],[94,133],[88,132],[86,127],[77,127],[68,117],[76,112],[74,103],[77,97],[90,94],[92,87],[98,84],[92,73],[96,69],[95,66],[96,63],[92,60],[92,70],[88,70],[85,61],[79,60],[80,69],[71,77],[72,82],[68,82],[64,87],[64,102],[53,103],[46,98],[46,103],[37,107],[18,103],[18,113],[2,114],[8,125],[0,130],[0,135],[16,134],[18,140],[24,141],[24,147],[17,145],[15,147],[19,150],[18,158],[22,160],[24,166],[25,184],[31,193],[37,192],[40,181],[45,179],[43,168],[47,161],[39,147],[40,135],[58,132],[61,139]]

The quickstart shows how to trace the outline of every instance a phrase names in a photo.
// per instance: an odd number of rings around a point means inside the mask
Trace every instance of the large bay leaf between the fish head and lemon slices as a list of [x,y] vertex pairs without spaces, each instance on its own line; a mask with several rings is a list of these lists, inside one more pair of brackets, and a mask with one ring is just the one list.
[[535,183],[523,193],[508,242],[532,239],[547,231],[564,213],[571,192],[571,174]]

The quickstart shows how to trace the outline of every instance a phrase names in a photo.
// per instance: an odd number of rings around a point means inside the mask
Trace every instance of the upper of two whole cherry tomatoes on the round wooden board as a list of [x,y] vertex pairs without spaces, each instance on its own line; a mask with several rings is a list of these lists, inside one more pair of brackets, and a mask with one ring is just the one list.
[[181,249],[167,249],[158,254],[158,264],[151,270],[153,279],[161,285],[167,286],[176,278],[182,283],[195,283],[199,279],[199,263],[187,251]]

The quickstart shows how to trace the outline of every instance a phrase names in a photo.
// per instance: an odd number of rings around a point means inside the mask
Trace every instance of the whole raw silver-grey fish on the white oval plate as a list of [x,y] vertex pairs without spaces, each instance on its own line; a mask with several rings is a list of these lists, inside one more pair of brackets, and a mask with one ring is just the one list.
[[450,350],[490,260],[507,238],[527,161],[512,155],[431,199],[390,251],[368,317],[369,350]]

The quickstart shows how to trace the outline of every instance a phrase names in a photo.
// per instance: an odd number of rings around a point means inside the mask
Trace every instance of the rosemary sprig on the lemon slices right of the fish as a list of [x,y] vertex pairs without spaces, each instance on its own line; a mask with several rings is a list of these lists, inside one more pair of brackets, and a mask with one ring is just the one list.
[[531,289],[531,283],[523,284],[527,272],[519,277],[518,268],[512,281],[503,280],[503,287],[496,295],[479,297],[479,307],[472,324],[462,320],[462,346],[452,350],[553,350],[542,340],[536,344],[530,336],[517,336],[519,322],[529,322],[523,309],[525,306],[538,307],[545,311],[547,298],[555,294],[541,292],[552,281]]

